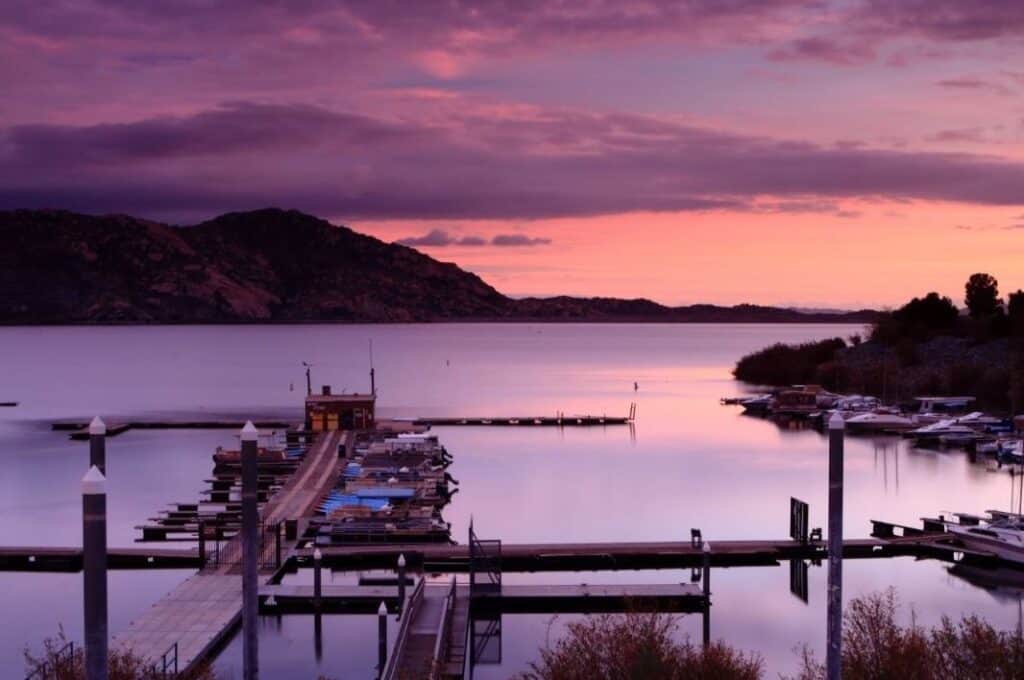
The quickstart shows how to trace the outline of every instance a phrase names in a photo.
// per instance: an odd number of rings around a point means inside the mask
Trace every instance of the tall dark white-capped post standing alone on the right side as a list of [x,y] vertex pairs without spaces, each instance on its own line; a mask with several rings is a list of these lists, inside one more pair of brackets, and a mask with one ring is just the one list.
[[839,413],[828,420],[828,680],[843,676],[843,435]]

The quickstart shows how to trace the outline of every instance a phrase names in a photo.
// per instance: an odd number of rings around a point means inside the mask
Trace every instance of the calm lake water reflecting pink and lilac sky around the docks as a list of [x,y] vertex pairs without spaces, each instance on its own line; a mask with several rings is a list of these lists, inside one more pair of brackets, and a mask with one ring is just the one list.
[[[389,327],[175,327],[0,329],[0,544],[75,545],[81,540],[79,479],[87,445],[50,432],[57,418],[109,420],[155,414],[298,416],[301,362],[313,382],[365,390],[373,340],[381,416],[538,415],[558,411],[625,414],[628,428],[438,428],[456,458],[460,493],[445,511],[457,539],[472,515],[484,538],[518,541],[782,538],[788,499],[810,503],[824,524],[826,456],[814,431],[784,431],[739,415],[718,398],[742,387],[729,370],[763,345],[849,335],[856,327],[447,325]],[[639,391],[634,392],[634,381]],[[111,439],[108,469],[112,545],[131,545],[134,526],[172,501],[193,500],[229,444],[217,431],[129,432]],[[972,465],[962,453],[909,449],[895,438],[849,438],[846,535],[864,537],[869,519],[916,524],[942,510],[1005,508],[1006,473]],[[849,597],[889,586],[923,623],[979,612],[1015,626],[1014,593],[991,593],[938,562],[850,561]],[[180,571],[117,571],[111,625],[127,625],[183,578]],[[307,575],[298,575],[302,579]],[[342,580],[346,575],[334,575]],[[509,575],[523,581],[666,583],[688,571]],[[770,677],[792,672],[794,649],[820,653],[824,569],[810,571],[810,602],[788,592],[788,569],[716,570],[712,629],[760,652]],[[8,620],[0,627],[0,676],[18,677],[22,650],[62,625],[81,638],[81,576],[0,573]],[[16,612],[11,614],[11,612]],[[572,617],[505,617],[502,663],[477,678],[507,678],[537,656]],[[12,625],[14,622],[15,625]],[[328,617],[314,655],[308,617],[265,618],[261,664],[267,677],[369,678],[375,622]],[[699,619],[681,634],[699,637]],[[241,641],[218,660],[241,677]]]

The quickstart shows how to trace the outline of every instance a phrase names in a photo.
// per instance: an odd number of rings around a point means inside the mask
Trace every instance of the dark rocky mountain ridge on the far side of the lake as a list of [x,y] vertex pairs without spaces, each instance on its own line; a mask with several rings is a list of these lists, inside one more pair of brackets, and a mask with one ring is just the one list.
[[0,212],[0,323],[869,322],[870,310],[502,295],[476,274],[294,210],[179,227],[125,215]]

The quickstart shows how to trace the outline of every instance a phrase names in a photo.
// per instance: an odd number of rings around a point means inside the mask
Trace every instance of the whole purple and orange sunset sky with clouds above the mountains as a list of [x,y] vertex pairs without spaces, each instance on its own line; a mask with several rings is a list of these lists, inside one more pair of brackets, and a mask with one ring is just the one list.
[[0,209],[295,208],[515,295],[1024,287],[1024,3],[5,0]]

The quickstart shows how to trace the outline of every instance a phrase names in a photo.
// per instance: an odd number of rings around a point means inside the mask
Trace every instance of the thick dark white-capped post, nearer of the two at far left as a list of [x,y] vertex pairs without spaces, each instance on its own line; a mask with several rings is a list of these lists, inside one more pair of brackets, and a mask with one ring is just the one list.
[[96,466],[82,477],[82,573],[85,677],[106,680],[106,478]]

